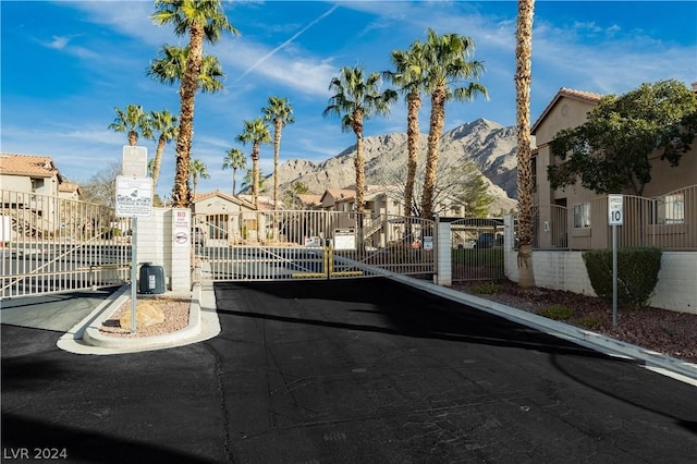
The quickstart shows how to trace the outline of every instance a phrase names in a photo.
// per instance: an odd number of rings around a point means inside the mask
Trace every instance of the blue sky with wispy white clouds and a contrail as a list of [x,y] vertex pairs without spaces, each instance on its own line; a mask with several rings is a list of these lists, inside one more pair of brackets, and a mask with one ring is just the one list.
[[[232,191],[222,170],[245,120],[260,117],[268,98],[288,98],[295,123],[283,130],[281,163],[320,162],[355,144],[340,118],[322,117],[329,83],[343,66],[366,73],[391,70],[391,51],[438,34],[474,38],[470,57],[484,63],[479,78],[488,99],[450,102],[445,131],[485,118],[515,124],[514,1],[223,1],[240,35],[224,35],[206,54],[222,64],[225,89],[197,94],[192,158],[207,167],[198,193]],[[53,158],[71,181],[86,182],[120,162],[126,135],[108,129],[115,108],[179,114],[179,85],[146,75],[163,45],[185,46],[171,26],[156,26],[152,1],[0,1],[0,150]],[[533,123],[562,87],[623,94],[641,83],[697,82],[697,1],[541,1],[533,33]],[[386,82],[382,88],[388,88]],[[429,105],[420,111],[428,131]],[[271,129],[272,131],[272,129]],[[365,136],[406,131],[404,99],[388,117],[365,123]],[[156,143],[140,138],[148,156]],[[163,154],[157,193],[169,197],[175,144]],[[248,166],[252,166],[250,160]],[[262,174],[273,172],[273,149],[264,145]],[[237,173],[240,187],[242,173]]]

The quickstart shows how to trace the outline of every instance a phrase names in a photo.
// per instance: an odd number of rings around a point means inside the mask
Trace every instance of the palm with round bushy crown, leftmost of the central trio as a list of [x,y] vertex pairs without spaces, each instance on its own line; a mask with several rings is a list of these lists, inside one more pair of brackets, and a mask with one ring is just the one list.
[[335,91],[329,99],[329,106],[322,115],[341,117],[341,129],[352,130],[356,135],[356,211],[365,209],[365,160],[363,157],[363,122],[374,114],[389,114],[390,103],[398,98],[396,91],[380,91],[380,74],[365,76],[362,68],[342,68],[339,76],[333,77],[329,89]]

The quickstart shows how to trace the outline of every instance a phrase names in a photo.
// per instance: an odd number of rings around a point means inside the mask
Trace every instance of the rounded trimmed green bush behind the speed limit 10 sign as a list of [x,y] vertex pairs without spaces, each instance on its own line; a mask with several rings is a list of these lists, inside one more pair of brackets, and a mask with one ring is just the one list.
[[[612,249],[583,253],[590,284],[602,298],[612,298]],[[658,283],[661,249],[655,247],[617,249],[617,301],[646,306]]]

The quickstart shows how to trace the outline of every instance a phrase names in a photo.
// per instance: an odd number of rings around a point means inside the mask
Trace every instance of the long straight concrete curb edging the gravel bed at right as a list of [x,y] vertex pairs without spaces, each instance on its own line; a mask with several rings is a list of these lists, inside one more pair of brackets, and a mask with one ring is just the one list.
[[[649,369],[665,375],[673,373],[676,376],[685,377],[682,379],[676,377],[680,380],[697,384],[697,364],[687,363],[641,346],[611,339],[597,332],[548,319],[523,309],[516,309],[501,303],[480,298],[447,286],[436,285],[424,280],[414,279],[407,276],[393,276],[391,279],[451,301],[464,303],[474,308],[501,316],[513,322],[522,323],[541,332],[549,333],[550,335],[568,340],[601,353],[640,361]],[[689,381],[687,379],[689,379]]]

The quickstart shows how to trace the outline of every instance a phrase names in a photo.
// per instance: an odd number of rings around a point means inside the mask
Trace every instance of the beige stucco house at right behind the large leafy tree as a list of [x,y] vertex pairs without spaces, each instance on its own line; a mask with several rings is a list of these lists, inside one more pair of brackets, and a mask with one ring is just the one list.
[[[561,88],[530,129],[537,142],[533,157],[537,248],[606,248],[611,243],[607,195],[597,195],[579,183],[553,190],[547,178],[548,166],[555,162],[550,142],[559,131],[585,123],[601,97]],[[697,143],[678,167],[661,161],[658,152],[651,164],[651,182],[644,197],[623,192],[620,246],[697,248]]]

